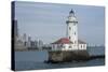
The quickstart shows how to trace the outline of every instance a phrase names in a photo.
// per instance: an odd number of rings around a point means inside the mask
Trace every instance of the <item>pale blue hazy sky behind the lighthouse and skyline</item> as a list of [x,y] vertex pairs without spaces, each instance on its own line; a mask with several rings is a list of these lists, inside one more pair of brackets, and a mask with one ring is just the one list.
[[19,34],[52,43],[66,37],[70,10],[78,19],[78,37],[89,44],[105,44],[105,8],[78,4],[15,2],[15,19]]

